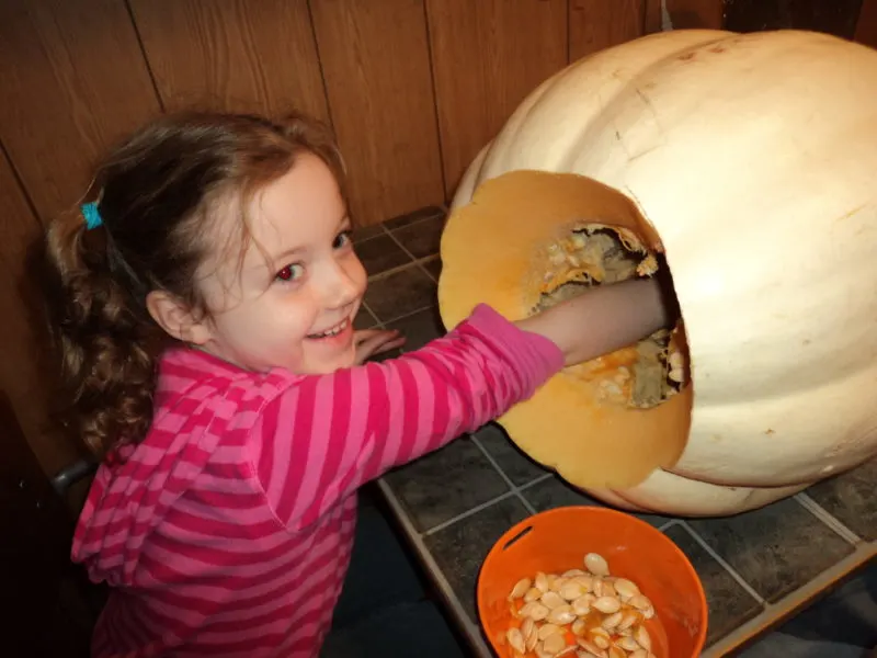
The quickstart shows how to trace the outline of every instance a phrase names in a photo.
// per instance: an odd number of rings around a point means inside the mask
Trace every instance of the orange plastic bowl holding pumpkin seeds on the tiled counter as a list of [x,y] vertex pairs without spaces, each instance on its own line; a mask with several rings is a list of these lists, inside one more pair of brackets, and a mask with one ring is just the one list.
[[654,605],[646,622],[657,658],[697,658],[704,647],[707,608],[701,579],[679,547],[636,517],[600,507],[565,507],[511,527],[488,553],[478,576],[478,614],[488,642],[512,658],[505,640],[512,626],[509,593],[537,571],[584,570],[584,556],[599,553],[613,576],[633,580]]

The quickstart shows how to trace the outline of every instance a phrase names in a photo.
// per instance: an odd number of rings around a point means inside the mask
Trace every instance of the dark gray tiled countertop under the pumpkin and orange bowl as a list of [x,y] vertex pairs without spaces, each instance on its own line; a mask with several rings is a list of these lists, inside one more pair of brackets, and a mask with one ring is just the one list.
[[[441,334],[435,308],[440,208],[357,231],[369,272],[361,328],[401,329],[405,349]],[[877,555],[877,461],[766,508],[725,519],[642,515],[692,560],[707,594],[705,658],[732,655]],[[380,490],[477,656],[491,657],[475,613],[487,552],[525,517],[602,504],[524,456],[499,426],[396,469]]]

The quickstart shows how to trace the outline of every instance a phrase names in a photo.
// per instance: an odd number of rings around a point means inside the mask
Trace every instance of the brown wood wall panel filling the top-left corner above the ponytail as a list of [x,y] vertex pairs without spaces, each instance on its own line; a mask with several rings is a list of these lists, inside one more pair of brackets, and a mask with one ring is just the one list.
[[0,53],[0,139],[45,222],[158,99],[124,0],[3,0]]

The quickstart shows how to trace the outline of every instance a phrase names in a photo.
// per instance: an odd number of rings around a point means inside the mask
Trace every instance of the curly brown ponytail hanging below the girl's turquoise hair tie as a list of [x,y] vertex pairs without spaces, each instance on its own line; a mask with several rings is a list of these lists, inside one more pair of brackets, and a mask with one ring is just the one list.
[[[156,327],[105,226],[71,213],[47,236],[50,331],[60,359],[61,417],[98,457],[140,440],[151,420]],[[127,283],[128,285],[123,285]],[[135,282],[136,283],[136,282]],[[134,292],[133,292],[134,291]]]

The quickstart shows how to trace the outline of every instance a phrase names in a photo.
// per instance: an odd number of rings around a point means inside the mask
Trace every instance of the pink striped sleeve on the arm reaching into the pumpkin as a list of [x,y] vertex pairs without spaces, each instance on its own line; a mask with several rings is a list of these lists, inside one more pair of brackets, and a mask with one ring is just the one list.
[[562,364],[553,342],[481,305],[399,359],[292,379],[253,427],[257,476],[278,520],[306,526],[365,481],[531,397]]

